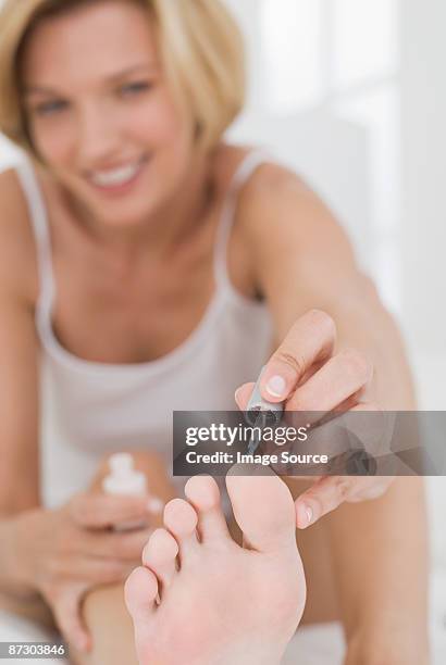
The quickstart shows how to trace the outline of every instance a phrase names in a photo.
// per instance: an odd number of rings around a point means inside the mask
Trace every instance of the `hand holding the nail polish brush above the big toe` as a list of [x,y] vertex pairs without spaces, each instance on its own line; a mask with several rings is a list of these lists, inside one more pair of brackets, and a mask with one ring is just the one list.
[[[371,363],[355,349],[334,354],[336,327],[324,312],[312,310],[297,319],[271,356],[262,374],[260,390],[270,402],[285,401],[286,411],[380,411],[370,400]],[[241,411],[253,384],[236,391]],[[357,502],[384,494],[393,478],[324,476],[314,480],[296,501],[299,528],[314,524],[344,501]]]

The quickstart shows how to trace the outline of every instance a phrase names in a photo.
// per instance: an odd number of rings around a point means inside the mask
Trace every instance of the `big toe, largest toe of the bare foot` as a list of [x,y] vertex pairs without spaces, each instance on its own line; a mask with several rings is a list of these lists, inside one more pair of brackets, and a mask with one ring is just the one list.
[[234,466],[226,476],[234,516],[245,540],[261,552],[296,548],[296,512],[289,489],[272,470],[271,475],[241,475],[247,473],[246,466]]

